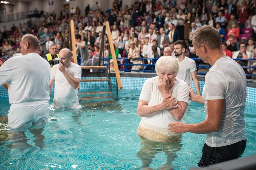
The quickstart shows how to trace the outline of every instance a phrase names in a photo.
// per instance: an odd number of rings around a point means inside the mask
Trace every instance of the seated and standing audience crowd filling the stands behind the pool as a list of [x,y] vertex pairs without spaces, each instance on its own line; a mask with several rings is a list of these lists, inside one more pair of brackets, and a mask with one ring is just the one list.
[[[13,24],[11,30],[4,27],[0,34],[1,55],[3,59],[20,55],[20,38],[25,33],[32,33],[40,40],[39,54],[49,61],[47,54],[56,55],[62,48],[69,48],[69,21],[73,19],[75,33],[81,35],[81,43],[92,51],[92,58],[99,57],[103,22],[109,21],[116,56],[127,58],[130,64],[139,64],[128,66],[128,71],[142,71],[145,64],[152,64],[152,58],[162,56],[166,47],[175,57],[173,44],[177,40],[187,43],[186,56],[197,58],[189,34],[202,25],[217,28],[222,37],[222,50],[226,55],[234,59],[255,58],[255,10],[254,0],[136,0],[130,7],[125,5],[123,8],[122,1],[114,0],[112,9],[107,12],[101,11],[100,4],[96,2],[92,7],[88,5],[84,13],[79,7],[70,10],[63,8],[59,16],[54,12],[45,15],[42,13],[40,25],[34,25],[29,19],[27,23],[20,23],[18,26]],[[243,34],[244,31],[246,34]],[[239,35],[246,35],[246,39]],[[241,42],[244,44],[240,45]],[[52,45],[57,50],[52,50]],[[111,59],[107,35],[104,37],[103,51],[104,57]],[[78,53],[81,65],[84,64],[84,55],[88,55],[88,52]],[[56,56],[52,58],[53,61],[49,61],[52,65],[56,63],[55,58]],[[124,64],[125,60],[118,62]],[[255,66],[256,62],[245,60],[239,61],[239,64]],[[124,69],[124,66],[120,66],[120,69]],[[146,69],[150,69],[150,66]],[[203,68],[202,71],[207,72],[207,69]],[[244,71],[246,74],[255,73],[254,68]]]

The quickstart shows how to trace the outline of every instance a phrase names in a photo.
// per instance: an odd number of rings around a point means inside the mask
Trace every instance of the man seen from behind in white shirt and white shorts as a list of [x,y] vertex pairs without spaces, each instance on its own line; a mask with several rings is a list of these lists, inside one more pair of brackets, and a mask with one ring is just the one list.
[[[24,131],[29,129],[35,135],[35,145],[44,147],[42,135],[49,117],[50,64],[39,54],[36,36],[26,34],[20,41],[22,56],[8,59],[0,67],[0,85],[9,83],[8,127],[13,145],[22,149],[27,144]],[[20,145],[22,144],[22,145]]]

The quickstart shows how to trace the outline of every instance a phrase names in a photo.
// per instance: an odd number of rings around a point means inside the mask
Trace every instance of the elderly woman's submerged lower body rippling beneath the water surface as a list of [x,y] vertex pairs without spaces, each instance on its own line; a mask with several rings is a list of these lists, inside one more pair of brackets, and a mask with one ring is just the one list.
[[160,152],[164,152],[167,161],[160,167],[161,170],[170,170],[173,168],[172,161],[177,157],[177,151],[182,147],[180,142],[164,143],[155,142],[141,137],[141,148],[137,153],[137,157],[142,161],[142,169],[151,169],[150,164],[153,162],[153,158]]

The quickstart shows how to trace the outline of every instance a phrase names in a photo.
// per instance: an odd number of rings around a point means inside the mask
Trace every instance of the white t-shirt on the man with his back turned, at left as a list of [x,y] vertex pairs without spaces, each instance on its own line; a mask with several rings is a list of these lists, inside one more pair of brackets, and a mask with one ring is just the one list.
[[9,83],[10,104],[49,101],[50,64],[37,53],[8,59],[0,67],[0,85]]

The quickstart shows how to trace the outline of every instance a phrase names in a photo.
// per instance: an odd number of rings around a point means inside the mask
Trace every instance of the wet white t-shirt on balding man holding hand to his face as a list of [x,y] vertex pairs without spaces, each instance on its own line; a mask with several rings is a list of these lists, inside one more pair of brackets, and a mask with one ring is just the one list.
[[[54,108],[59,107],[80,107],[78,101],[78,91],[77,88],[74,89],[67,79],[65,78],[64,74],[61,73],[58,69],[59,64],[56,64],[52,67],[51,70],[51,79],[55,80],[55,87],[54,87],[54,99],[52,102],[52,106]],[[72,78],[81,79],[81,66],[71,63],[71,66],[66,68],[67,73]]]

